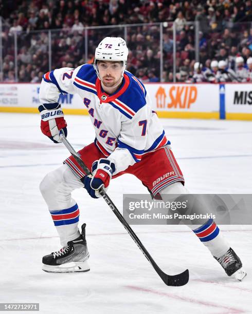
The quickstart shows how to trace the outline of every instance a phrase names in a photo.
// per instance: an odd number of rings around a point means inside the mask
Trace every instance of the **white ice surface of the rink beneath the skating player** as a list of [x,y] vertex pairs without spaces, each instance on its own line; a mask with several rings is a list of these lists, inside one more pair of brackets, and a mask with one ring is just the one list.
[[[251,193],[252,122],[163,120],[172,149],[194,193]],[[94,140],[86,116],[67,116],[76,149]],[[154,260],[169,274],[190,271],[189,283],[168,287],[103,199],[74,192],[85,222],[91,271],[51,274],[43,255],[60,248],[39,191],[43,176],[68,156],[40,131],[40,116],[0,114],[0,302],[38,302],[41,313],[252,313],[252,226],[223,226],[247,277],[236,282],[184,226],[132,226]],[[134,176],[111,182],[122,193],[147,193]],[[230,231],[232,230],[232,231]]]

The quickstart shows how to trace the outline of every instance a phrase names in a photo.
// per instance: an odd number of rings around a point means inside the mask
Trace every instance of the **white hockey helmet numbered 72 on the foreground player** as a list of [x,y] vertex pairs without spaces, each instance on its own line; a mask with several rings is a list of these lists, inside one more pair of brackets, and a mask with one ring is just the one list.
[[[95,50],[94,68],[97,76],[98,61],[121,61],[123,62],[122,77],[127,65],[127,57],[129,50],[126,42],[121,37],[105,37]],[[100,77],[99,77],[100,78]]]

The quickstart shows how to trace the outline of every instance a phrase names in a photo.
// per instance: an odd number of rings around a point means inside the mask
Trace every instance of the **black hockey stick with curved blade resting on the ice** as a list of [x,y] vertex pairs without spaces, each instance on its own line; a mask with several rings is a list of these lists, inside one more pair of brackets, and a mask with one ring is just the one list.
[[[71,153],[71,155],[74,157],[76,162],[79,164],[79,166],[82,168],[82,170],[87,174],[92,174],[91,171],[87,168],[87,166],[83,163],[83,161],[80,158],[80,155],[75,151],[75,149],[70,145],[70,143],[65,138],[63,130],[60,130],[60,140],[65,145],[65,147],[68,149],[68,151]],[[123,227],[128,231],[131,238],[135,241],[136,245],[139,247],[139,249],[142,251],[142,253],[145,255],[147,260],[151,263],[152,267],[156,270],[159,277],[164,281],[164,283],[168,286],[184,286],[187,284],[189,280],[189,271],[186,269],[184,272],[176,274],[176,275],[168,275],[163,270],[161,270],[153,258],[150,256],[150,253],[147,251],[147,249],[143,246],[141,241],[138,239],[135,232],[131,229],[127,221],[123,218],[119,210],[116,208],[115,204],[111,201],[109,196],[104,192],[103,188],[100,188],[99,193],[102,195],[103,199],[107,203],[107,205],[110,206],[110,208],[113,210],[116,217],[119,219],[119,221],[122,223]]]

